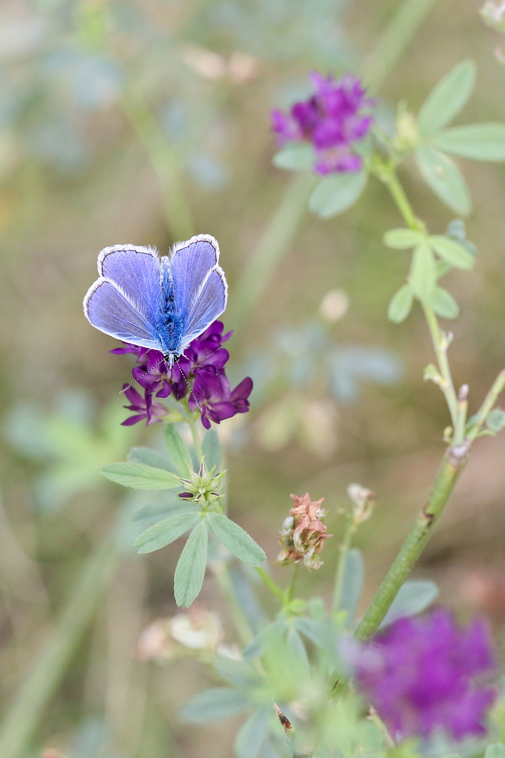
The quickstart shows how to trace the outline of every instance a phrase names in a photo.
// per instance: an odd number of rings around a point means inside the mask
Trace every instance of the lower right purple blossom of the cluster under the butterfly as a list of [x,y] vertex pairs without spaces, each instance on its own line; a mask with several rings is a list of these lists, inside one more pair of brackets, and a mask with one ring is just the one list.
[[206,429],[210,429],[210,421],[220,424],[223,419],[231,418],[235,413],[247,413],[248,396],[251,394],[252,387],[252,379],[245,377],[235,390],[230,391],[230,384],[224,371],[216,371],[213,368],[198,371],[193,393],[189,397],[189,409],[194,411],[198,401],[202,409],[201,423]]

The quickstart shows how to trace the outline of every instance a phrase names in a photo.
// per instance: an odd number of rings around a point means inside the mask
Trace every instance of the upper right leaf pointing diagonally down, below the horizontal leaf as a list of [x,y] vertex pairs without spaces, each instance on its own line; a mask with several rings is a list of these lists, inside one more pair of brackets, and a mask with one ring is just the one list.
[[472,199],[454,161],[431,147],[417,149],[416,159],[419,171],[435,195],[460,215],[468,215],[472,210]]

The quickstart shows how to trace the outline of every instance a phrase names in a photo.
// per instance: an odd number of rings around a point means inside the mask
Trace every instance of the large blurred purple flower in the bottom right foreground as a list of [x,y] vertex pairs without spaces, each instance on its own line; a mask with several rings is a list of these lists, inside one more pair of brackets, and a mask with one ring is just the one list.
[[356,653],[358,688],[391,734],[454,738],[482,735],[496,697],[475,677],[492,672],[488,627],[475,620],[460,629],[439,609],[424,619],[399,619]]

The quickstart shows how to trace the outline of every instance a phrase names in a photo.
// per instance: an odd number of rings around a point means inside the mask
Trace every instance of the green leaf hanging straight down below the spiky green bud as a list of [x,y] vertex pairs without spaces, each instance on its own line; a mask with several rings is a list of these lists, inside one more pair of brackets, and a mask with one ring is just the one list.
[[196,525],[182,550],[173,578],[174,595],[179,608],[189,608],[200,594],[207,564],[207,525]]

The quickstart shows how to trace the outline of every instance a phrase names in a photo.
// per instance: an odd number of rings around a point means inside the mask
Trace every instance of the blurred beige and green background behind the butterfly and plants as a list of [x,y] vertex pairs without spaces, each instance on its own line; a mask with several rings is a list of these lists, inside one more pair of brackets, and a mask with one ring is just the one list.
[[[139,660],[142,629],[176,612],[177,550],[136,556],[129,512],[142,493],[133,503],[98,473],[134,444],[160,444],[156,425],[120,426],[129,356],[111,356],[114,340],[83,316],[104,246],[220,241],[230,374],[255,382],[251,412],[220,428],[230,515],[273,560],[289,494],[325,498],[335,538],[320,572],[301,576],[301,594],[331,592],[348,484],[378,497],[357,537],[363,604],[426,498],[448,417],[438,388],[422,382],[432,361],[422,315],[401,326],[385,315],[407,257],[381,240],[400,219],[376,182],[339,218],[301,212],[307,180],[273,168],[269,122],[271,108],[306,95],[310,70],[373,77],[373,51],[405,5],[419,18],[397,30],[377,92],[383,117],[402,99],[415,111],[472,58],[477,88],[459,123],[505,120],[500,39],[472,0],[0,5],[2,758],[45,747],[70,758],[214,758],[231,754],[240,722],[179,723],[178,703],[210,673],[192,660]],[[461,164],[479,258],[448,280],[462,306],[450,359],[475,411],[505,362],[505,174]],[[441,233],[453,215],[413,165],[401,174],[416,213]],[[463,618],[490,615],[498,634],[503,456],[500,437],[475,446],[415,572],[438,581],[440,601]],[[288,581],[280,568],[276,577]],[[228,623],[212,578],[198,607]]]

